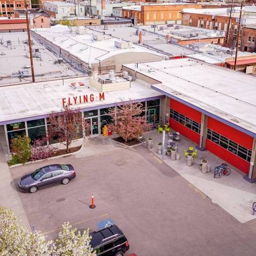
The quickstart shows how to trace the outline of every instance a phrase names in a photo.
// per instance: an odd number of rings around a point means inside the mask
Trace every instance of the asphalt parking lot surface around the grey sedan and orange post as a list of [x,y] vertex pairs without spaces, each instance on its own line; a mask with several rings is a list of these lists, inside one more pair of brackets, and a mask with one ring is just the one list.
[[81,230],[114,222],[138,256],[255,254],[255,220],[238,222],[143,146],[15,167],[13,189],[22,175],[52,163],[72,164],[76,178],[19,193],[30,225],[50,238],[65,221]]

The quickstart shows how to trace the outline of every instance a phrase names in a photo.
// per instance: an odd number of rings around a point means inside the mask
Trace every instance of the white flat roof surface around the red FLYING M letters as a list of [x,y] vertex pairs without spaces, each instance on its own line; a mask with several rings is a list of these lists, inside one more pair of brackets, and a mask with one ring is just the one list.
[[[82,82],[85,86],[75,90],[71,86],[73,82]],[[37,119],[38,116],[50,114],[51,111],[59,112],[62,109],[63,98],[66,98],[66,102],[68,102],[69,97],[71,99],[73,97],[79,98],[79,95],[81,95],[83,99],[83,95],[89,95],[90,98],[90,94],[94,94],[93,102],[71,107],[79,107],[85,110],[86,108],[98,109],[122,101],[143,100],[163,95],[151,89],[150,85],[142,85],[139,81],[132,81],[130,89],[105,92],[105,100],[99,101],[99,92],[90,87],[89,76],[68,78],[63,82],[62,80],[56,80],[5,86],[0,87],[0,124],[12,123],[13,120],[17,121],[31,117]]]

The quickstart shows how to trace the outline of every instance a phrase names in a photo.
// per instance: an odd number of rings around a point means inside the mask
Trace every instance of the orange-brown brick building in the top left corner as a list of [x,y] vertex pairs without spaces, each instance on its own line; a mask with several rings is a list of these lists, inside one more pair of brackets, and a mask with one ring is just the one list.
[[[31,1],[27,0],[28,8],[31,8]],[[0,1],[0,17],[14,17],[14,9],[25,9],[24,1]]]

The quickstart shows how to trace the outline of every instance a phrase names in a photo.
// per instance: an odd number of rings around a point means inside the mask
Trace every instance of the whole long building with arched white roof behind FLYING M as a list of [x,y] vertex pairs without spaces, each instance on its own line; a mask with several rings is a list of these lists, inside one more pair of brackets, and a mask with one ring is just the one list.
[[71,62],[78,70],[99,74],[120,72],[124,63],[141,63],[165,59],[166,55],[116,39],[84,27],[57,25],[33,30],[32,34],[48,49]]

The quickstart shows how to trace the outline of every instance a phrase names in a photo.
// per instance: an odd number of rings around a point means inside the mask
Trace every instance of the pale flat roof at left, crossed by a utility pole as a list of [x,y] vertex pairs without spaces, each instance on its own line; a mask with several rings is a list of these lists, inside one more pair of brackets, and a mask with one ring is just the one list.
[[[31,75],[31,68],[24,68],[26,65],[30,66],[30,59],[27,57],[28,44],[24,43],[28,39],[27,33],[1,33],[1,38],[3,38],[4,44],[0,44],[0,77],[4,78],[0,79],[0,86],[31,81],[31,76],[21,78],[21,80],[17,76],[12,76],[12,73],[18,73],[21,70],[27,70]],[[83,75],[68,63],[54,64],[54,61],[58,59],[57,55],[47,50],[33,37],[31,39],[34,41],[32,49],[38,49],[41,54],[41,58],[33,58],[36,81]],[[11,41],[12,46],[7,47],[6,41]]]

